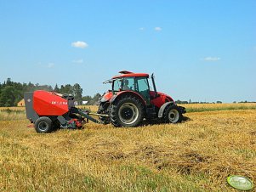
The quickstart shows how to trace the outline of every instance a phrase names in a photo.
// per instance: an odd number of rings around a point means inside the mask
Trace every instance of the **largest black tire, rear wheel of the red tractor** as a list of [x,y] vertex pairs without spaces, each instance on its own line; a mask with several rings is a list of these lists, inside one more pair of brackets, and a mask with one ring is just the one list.
[[115,127],[138,127],[144,117],[144,104],[135,96],[125,96],[111,104],[110,116]]

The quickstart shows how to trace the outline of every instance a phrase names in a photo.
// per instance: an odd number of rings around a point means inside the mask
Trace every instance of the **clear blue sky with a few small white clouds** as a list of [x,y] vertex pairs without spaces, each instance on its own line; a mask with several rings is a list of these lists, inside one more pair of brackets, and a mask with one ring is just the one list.
[[0,1],[0,82],[103,93],[154,72],[174,99],[256,101],[256,1]]

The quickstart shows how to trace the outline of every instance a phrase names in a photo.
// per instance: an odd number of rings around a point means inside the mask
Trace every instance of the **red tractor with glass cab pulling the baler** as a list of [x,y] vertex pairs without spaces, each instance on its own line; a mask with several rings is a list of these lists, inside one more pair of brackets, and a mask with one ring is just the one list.
[[111,83],[111,90],[100,100],[98,110],[100,121],[112,123],[115,127],[137,127],[142,121],[156,120],[177,123],[183,120],[184,107],[175,104],[174,99],[156,91],[154,76],[149,74],[120,71],[105,83]]

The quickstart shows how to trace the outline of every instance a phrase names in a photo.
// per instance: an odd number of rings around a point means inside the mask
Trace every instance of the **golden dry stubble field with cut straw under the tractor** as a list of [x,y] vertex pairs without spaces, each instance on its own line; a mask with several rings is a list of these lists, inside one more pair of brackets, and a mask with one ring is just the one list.
[[256,180],[256,110],[186,116],[177,125],[88,123],[51,134],[0,121],[0,190],[232,191],[229,174]]

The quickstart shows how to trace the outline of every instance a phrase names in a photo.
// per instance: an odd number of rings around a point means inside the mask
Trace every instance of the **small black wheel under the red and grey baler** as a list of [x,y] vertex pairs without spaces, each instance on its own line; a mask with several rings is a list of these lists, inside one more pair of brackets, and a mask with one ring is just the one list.
[[35,121],[37,133],[50,133],[54,130],[53,121],[47,116],[42,116]]

